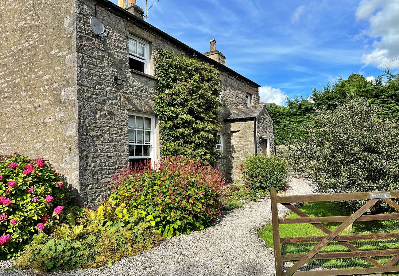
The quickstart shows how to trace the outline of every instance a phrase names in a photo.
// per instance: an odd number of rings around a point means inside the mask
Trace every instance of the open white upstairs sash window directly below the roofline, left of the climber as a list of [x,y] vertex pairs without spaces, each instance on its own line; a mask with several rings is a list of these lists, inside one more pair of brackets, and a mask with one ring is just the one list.
[[129,69],[148,74],[150,71],[150,45],[134,36],[129,37]]

